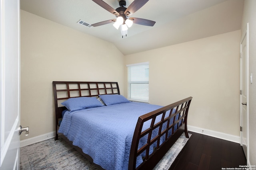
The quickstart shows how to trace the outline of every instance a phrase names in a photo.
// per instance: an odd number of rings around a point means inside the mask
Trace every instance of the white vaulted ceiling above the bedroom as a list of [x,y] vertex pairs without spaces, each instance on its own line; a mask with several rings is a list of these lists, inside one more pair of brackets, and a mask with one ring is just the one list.
[[[126,0],[126,8],[133,0]],[[112,8],[118,0],[104,0]],[[240,29],[244,0],[149,0],[132,17],[156,21],[153,27],[133,24],[122,38],[112,23],[85,27],[115,16],[92,0],[20,0],[20,8],[48,20],[104,39],[129,55]]]

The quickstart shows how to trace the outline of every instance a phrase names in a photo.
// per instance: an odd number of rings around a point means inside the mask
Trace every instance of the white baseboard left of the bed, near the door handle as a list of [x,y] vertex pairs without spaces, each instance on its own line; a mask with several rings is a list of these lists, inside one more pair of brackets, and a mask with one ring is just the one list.
[[51,138],[54,138],[54,137],[55,137],[55,131],[50,132],[50,133],[46,133],[46,134],[43,134],[43,135],[39,135],[39,136],[36,136],[36,137],[28,138],[28,139],[20,141],[20,147],[31,145],[33,143],[37,143],[37,142],[44,141],[44,140],[47,140],[47,139],[51,139]]

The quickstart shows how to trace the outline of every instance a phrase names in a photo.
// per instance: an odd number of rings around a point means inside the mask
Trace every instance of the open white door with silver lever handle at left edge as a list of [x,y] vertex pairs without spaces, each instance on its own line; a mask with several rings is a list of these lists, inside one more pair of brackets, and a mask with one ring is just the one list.
[[20,152],[20,1],[0,0],[0,170],[18,170]]

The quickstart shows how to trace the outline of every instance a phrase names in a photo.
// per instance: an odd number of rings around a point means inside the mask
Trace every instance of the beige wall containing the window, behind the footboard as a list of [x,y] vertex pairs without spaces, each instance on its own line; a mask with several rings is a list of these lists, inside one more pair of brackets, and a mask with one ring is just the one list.
[[188,125],[240,136],[240,30],[125,56],[149,62],[150,103],[192,96]]

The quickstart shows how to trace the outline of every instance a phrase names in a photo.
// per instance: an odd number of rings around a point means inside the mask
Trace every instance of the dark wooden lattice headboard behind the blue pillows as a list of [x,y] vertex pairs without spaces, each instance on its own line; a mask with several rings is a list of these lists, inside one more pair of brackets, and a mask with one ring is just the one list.
[[97,97],[100,94],[120,94],[117,82],[52,82],[54,94],[54,107],[56,116],[56,137],[59,119],[62,118],[62,111],[66,107],[61,103],[69,98]]

